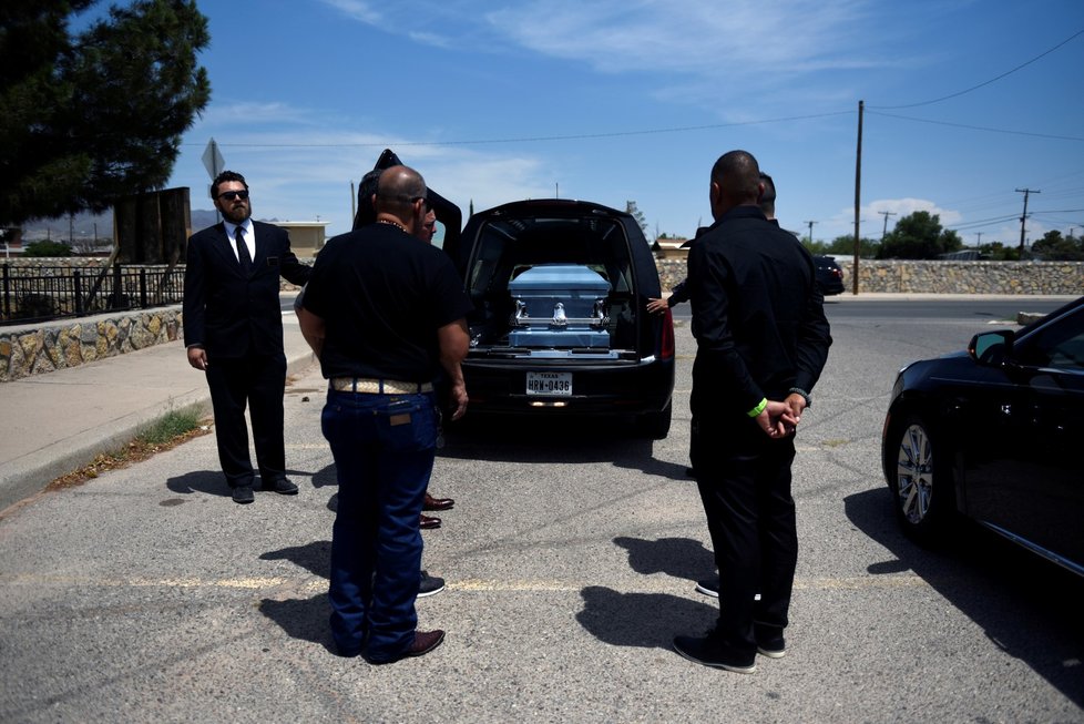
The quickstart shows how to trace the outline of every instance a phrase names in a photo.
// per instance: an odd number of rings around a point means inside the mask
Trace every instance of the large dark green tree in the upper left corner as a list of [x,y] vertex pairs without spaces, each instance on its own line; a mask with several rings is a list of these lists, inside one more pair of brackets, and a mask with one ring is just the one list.
[[161,188],[211,98],[194,0],[135,0],[71,34],[94,0],[0,10],[0,225],[103,211]]

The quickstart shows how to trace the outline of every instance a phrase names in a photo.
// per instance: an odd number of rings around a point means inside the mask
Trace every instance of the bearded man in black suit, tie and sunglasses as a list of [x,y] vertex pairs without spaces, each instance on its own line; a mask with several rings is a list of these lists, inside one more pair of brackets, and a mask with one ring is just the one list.
[[279,277],[305,284],[311,267],[289,248],[289,234],[252,221],[248,184],[233,171],[211,185],[223,222],[192,235],[184,273],[184,344],[188,364],[207,375],[218,460],[234,502],[255,500],[245,407],[264,490],[293,496],[286,479],[283,396],[286,355]]

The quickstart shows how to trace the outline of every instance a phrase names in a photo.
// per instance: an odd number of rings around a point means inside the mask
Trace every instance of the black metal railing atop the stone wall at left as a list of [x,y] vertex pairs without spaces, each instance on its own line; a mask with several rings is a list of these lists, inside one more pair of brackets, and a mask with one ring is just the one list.
[[181,304],[184,267],[2,265],[0,325]]

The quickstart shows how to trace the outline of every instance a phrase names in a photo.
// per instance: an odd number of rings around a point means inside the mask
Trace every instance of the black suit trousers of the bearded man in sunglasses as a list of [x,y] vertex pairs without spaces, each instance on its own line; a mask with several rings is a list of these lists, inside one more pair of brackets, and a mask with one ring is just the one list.
[[256,462],[263,480],[286,477],[283,441],[283,396],[286,391],[286,356],[255,355],[222,358],[208,354],[207,386],[215,410],[218,461],[231,488],[253,485],[255,472],[248,456],[249,409]]

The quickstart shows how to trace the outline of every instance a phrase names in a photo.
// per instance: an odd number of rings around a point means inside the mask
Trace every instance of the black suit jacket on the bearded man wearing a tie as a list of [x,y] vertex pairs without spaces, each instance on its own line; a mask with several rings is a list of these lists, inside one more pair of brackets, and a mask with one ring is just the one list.
[[219,222],[188,239],[184,271],[184,344],[202,346],[207,357],[283,354],[279,277],[308,282],[313,268],[289,248],[286,230],[253,222],[256,255],[247,277]]

